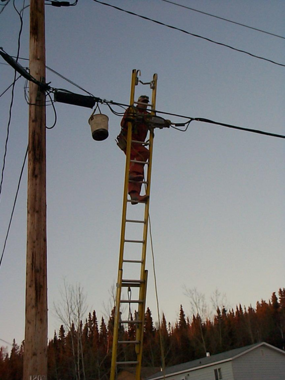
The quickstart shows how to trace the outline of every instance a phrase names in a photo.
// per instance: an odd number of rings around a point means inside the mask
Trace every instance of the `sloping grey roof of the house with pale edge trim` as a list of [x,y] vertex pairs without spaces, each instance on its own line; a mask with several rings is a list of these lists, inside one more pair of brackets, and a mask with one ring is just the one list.
[[[216,355],[206,356],[206,357],[202,357],[200,359],[187,361],[186,363],[172,365],[171,367],[165,368],[164,375],[170,375],[170,374],[174,375],[174,374],[179,373],[179,372],[185,372],[185,371],[188,371],[191,369],[193,370],[194,368],[204,367],[204,366],[208,366],[208,365],[213,365],[214,363],[220,363],[223,361],[233,360],[233,359],[237,358],[238,356],[241,356],[241,355],[245,354],[246,352],[249,352],[249,351],[251,351],[251,350],[253,350],[259,346],[262,346],[262,345],[266,346],[268,348],[274,349],[274,350],[285,355],[285,351],[282,351],[279,348],[271,346],[268,343],[261,342],[261,343],[251,344],[251,345],[245,346],[245,347],[235,348],[235,349],[230,350],[230,351],[221,352],[221,353],[218,353]],[[157,373],[153,374],[152,376],[149,376],[148,380],[159,378],[159,377],[163,377],[162,371],[157,372]]]

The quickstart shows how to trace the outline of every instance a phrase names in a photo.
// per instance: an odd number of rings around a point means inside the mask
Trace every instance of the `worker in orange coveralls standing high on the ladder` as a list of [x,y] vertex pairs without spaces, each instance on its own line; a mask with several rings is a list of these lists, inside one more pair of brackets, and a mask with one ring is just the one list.
[[[123,116],[121,121],[121,137],[127,138],[128,133],[128,122],[132,122],[132,140],[135,141],[145,141],[148,127],[143,120],[144,115],[148,115],[149,112],[146,111],[149,98],[145,95],[142,95],[138,99],[138,105],[131,110],[128,108]],[[119,144],[118,144],[119,145]],[[122,148],[121,148],[122,149]],[[127,147],[122,149],[125,154]],[[146,162],[149,158],[149,150],[142,144],[132,143],[131,145],[131,160],[144,161]],[[130,162],[130,171],[129,171],[129,187],[128,193],[132,200],[132,205],[136,205],[139,202],[146,202],[148,196],[141,196],[141,186],[144,179],[144,164]]]

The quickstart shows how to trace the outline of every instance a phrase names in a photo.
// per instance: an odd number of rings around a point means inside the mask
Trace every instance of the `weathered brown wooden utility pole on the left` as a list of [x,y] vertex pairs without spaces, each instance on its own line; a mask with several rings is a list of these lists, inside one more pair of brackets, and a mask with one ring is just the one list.
[[[44,0],[30,1],[30,74],[45,83]],[[23,380],[47,379],[46,94],[29,84],[26,324]]]

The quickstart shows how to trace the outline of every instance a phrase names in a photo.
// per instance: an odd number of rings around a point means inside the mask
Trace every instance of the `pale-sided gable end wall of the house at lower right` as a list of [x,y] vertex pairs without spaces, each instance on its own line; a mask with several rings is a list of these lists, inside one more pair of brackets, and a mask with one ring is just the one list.
[[234,380],[284,380],[285,353],[265,346],[233,360]]

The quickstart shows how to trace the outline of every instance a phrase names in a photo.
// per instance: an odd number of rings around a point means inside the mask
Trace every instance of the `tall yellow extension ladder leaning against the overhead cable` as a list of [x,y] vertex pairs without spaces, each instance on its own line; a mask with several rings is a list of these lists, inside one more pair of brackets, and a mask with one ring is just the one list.
[[[151,106],[150,115],[154,115],[157,74],[154,74],[153,80],[148,83],[141,82],[138,75],[140,75],[139,70],[132,71],[130,106],[134,107],[135,105],[135,86],[139,83],[150,84],[152,97],[151,104],[149,104],[148,107]],[[144,143],[144,145],[148,146],[150,153],[149,159],[145,163],[145,171],[147,171],[147,175],[145,175],[145,179],[142,181],[142,186],[145,186],[146,195],[148,196],[150,195],[153,137],[153,129],[151,129],[149,140]],[[124,365],[135,366],[136,380],[140,380],[141,378],[147,288],[147,270],[145,269],[145,263],[149,198],[145,203],[139,202],[137,206],[132,206],[131,200],[128,199],[129,168],[130,163],[133,162],[130,159],[131,142],[132,123],[129,122],[110,380],[115,380],[118,366],[123,367]],[[136,143],[138,142],[136,141]],[[124,297],[123,288],[127,290],[127,298]],[[132,307],[134,310],[132,310]],[[129,336],[131,335],[132,340],[126,340],[124,336],[126,328],[128,329]],[[128,357],[131,356],[132,360],[127,361],[127,355]]]

